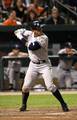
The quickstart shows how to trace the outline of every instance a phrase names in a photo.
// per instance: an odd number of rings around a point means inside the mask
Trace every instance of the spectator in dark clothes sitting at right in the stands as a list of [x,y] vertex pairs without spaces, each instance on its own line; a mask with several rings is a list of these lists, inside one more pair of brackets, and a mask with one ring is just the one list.
[[46,19],[46,24],[64,24],[65,20],[60,16],[59,9],[55,6],[51,9],[51,15]]

